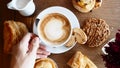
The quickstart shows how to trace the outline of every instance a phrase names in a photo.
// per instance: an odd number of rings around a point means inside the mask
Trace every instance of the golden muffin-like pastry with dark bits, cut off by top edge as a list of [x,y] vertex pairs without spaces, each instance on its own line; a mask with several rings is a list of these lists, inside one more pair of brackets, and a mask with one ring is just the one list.
[[82,13],[92,11],[102,4],[102,0],[72,0],[73,6]]

